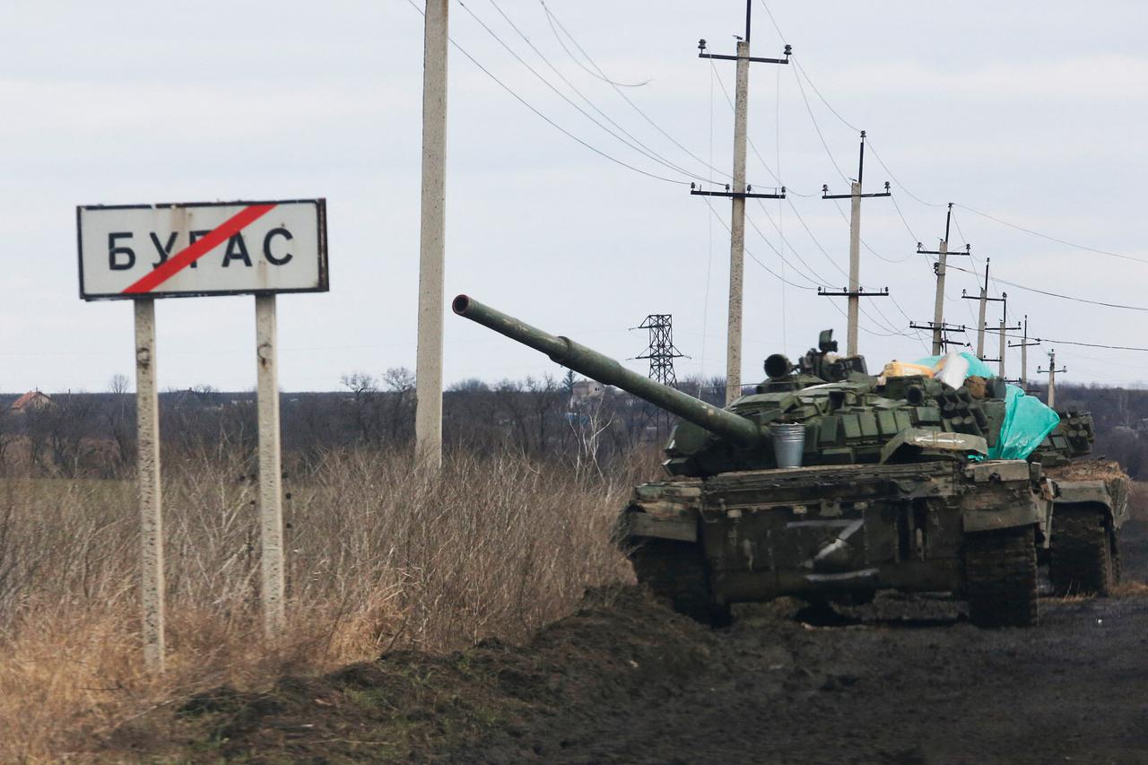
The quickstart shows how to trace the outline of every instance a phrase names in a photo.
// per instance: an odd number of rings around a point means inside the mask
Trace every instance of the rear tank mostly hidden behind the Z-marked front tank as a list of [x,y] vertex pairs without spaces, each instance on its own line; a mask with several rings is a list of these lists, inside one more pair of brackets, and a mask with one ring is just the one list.
[[1131,479],[1112,459],[1091,458],[1092,415],[1056,412],[1061,422],[1029,457],[1050,479],[1048,578],[1058,595],[1109,595],[1120,580],[1120,526]]

